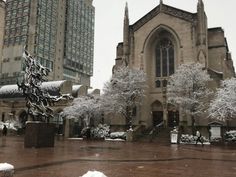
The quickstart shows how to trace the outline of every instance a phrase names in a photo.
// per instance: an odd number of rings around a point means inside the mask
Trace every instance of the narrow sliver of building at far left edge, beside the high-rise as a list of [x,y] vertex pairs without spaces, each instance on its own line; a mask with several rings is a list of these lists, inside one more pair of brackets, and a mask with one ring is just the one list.
[[[4,35],[4,25],[5,25],[5,2],[0,0],[0,61],[2,57],[3,48],[3,35]],[[1,62],[0,62],[0,73],[1,73]]]

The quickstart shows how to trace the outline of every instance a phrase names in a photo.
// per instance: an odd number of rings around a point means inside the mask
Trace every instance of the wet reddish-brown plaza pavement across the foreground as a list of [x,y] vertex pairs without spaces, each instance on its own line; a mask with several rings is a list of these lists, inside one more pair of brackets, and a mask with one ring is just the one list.
[[23,137],[0,137],[0,163],[14,177],[233,177],[236,146],[56,140],[54,148],[24,148]]

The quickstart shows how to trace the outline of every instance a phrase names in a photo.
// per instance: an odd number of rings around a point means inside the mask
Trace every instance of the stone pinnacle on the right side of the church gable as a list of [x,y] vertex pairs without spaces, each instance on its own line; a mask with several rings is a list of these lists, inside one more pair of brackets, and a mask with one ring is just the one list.
[[198,0],[197,5],[197,25],[196,25],[196,46],[197,46],[197,62],[205,67],[208,66],[208,41],[207,41],[207,17],[204,10],[204,3]]

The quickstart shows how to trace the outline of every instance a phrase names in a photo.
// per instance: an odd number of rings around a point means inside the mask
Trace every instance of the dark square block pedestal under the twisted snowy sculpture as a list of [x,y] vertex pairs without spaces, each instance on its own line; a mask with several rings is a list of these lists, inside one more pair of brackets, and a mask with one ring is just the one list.
[[27,122],[25,129],[25,148],[54,147],[55,124]]

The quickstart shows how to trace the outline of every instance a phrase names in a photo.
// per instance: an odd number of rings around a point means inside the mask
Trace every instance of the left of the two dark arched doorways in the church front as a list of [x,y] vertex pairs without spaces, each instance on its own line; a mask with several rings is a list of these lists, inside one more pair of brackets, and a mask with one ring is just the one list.
[[163,106],[160,101],[155,101],[151,105],[152,107],[152,123],[153,126],[158,126],[163,124]]

